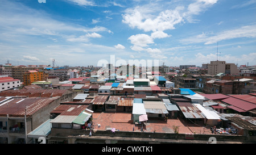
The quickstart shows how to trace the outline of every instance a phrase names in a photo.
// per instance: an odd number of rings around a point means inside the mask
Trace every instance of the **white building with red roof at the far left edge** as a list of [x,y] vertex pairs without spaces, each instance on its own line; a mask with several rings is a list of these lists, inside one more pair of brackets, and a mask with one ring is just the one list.
[[0,92],[22,86],[19,79],[12,77],[0,77]]

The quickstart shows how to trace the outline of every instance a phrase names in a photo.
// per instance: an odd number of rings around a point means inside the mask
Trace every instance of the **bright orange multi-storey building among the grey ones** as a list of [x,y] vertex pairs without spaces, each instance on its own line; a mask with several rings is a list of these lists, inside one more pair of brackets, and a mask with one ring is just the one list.
[[32,82],[36,81],[43,81],[44,80],[44,73],[38,72],[36,70],[28,70],[28,72],[24,73],[24,86],[31,85]]

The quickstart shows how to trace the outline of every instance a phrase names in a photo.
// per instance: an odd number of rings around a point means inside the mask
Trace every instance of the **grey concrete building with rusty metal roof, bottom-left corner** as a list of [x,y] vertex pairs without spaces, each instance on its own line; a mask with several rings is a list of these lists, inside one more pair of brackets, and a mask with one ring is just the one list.
[[[1,134],[0,143],[32,143],[27,135],[49,119],[49,112],[59,103],[53,98],[4,98],[0,102]],[[38,104],[40,103],[40,104]]]

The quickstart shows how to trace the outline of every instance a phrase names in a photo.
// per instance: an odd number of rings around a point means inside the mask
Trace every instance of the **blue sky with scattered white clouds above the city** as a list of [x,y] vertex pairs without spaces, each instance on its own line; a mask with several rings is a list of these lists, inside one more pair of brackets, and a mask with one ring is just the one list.
[[256,0],[0,2],[0,64],[256,65]]

